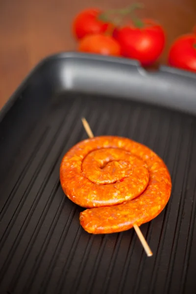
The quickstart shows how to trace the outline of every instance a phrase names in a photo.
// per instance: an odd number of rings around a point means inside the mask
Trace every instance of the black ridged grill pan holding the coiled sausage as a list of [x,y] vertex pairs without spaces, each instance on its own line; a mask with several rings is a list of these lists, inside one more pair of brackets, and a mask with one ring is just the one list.
[[[87,138],[131,138],[172,175],[164,211],[133,229],[91,235],[64,196],[63,155]],[[196,75],[62,53],[42,61],[0,113],[0,294],[190,294],[196,281]]]

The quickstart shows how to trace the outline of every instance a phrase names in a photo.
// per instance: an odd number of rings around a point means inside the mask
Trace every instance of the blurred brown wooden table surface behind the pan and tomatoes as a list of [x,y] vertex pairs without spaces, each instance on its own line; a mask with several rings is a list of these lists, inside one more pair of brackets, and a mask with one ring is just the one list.
[[[75,49],[71,24],[76,13],[87,7],[120,8],[131,2],[0,0],[0,108],[42,58]],[[173,39],[188,33],[196,24],[196,0],[143,2],[146,8],[142,14],[157,19],[165,26],[167,46],[159,62],[166,64]]]

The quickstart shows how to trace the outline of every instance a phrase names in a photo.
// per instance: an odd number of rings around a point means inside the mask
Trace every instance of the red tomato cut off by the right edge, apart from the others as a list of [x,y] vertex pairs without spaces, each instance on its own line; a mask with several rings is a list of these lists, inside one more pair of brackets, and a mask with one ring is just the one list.
[[173,67],[196,72],[196,35],[177,38],[170,49],[168,62]]

